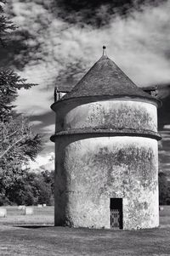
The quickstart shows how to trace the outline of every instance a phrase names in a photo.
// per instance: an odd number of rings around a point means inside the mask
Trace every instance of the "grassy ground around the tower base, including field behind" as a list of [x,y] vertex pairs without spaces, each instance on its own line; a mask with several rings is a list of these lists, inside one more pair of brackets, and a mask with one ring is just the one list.
[[89,230],[54,227],[54,208],[34,208],[33,216],[7,208],[0,219],[0,255],[11,256],[167,256],[170,255],[170,207],[152,230]]

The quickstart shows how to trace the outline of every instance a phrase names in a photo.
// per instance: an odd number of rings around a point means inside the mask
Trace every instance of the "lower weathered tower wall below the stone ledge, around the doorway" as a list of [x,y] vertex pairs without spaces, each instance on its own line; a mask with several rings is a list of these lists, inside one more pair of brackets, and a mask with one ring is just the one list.
[[55,225],[110,228],[110,198],[123,198],[123,229],[159,225],[157,141],[56,138]]

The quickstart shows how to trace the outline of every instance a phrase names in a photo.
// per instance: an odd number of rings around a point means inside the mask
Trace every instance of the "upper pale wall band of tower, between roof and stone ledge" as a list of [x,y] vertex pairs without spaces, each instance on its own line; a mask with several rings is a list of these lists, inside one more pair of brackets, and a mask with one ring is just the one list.
[[156,105],[137,100],[105,100],[78,105],[56,117],[56,132],[77,128],[133,128],[157,131]]

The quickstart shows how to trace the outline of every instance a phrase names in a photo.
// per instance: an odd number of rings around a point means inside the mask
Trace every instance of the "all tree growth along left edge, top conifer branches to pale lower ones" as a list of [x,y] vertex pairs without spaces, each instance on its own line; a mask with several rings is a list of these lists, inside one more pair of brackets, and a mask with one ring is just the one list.
[[[6,2],[0,0],[0,13],[3,13],[2,3]],[[3,14],[0,16],[2,47],[6,44],[6,35],[15,28]],[[40,135],[33,134],[28,118],[17,114],[13,105],[20,88],[34,85],[10,69],[0,70],[0,197],[4,202],[8,202],[10,187],[22,179],[27,162],[34,160],[42,148]]]

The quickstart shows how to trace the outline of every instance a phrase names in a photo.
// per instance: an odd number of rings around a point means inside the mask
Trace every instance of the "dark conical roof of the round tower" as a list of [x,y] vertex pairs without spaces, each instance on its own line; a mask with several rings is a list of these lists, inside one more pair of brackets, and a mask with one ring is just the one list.
[[150,94],[138,88],[105,54],[71,89],[71,92],[65,94],[59,101],[94,96],[143,98],[156,101]]

